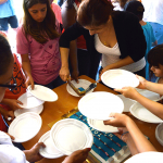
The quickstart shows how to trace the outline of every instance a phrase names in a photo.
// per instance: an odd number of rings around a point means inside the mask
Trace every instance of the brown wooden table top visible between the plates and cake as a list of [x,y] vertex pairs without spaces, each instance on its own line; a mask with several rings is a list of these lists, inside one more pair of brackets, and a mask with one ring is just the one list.
[[[91,79],[85,75],[80,76],[80,78],[90,80],[91,83],[95,83],[93,79]],[[78,104],[78,100],[80,98],[71,96],[66,91],[66,84],[64,84],[53,90],[58,95],[59,99],[55,102],[45,102],[43,111],[40,114],[40,116],[42,118],[41,129],[32,140],[23,143],[25,149],[30,149],[36,142],[38,142],[39,138],[45,133],[50,130],[50,127],[48,126],[49,123],[59,120],[63,114],[67,113],[70,110],[76,108]],[[115,91],[111,90],[110,88],[108,88],[99,83],[98,83],[95,91],[108,91],[108,92],[112,92],[112,93],[116,95]],[[150,138],[150,141],[156,148],[156,150],[160,152],[163,152],[163,147],[155,139],[155,127],[158,126],[158,124],[145,123],[145,122],[141,122],[141,121],[135,118],[130,113],[125,113],[125,114],[130,116],[136,122],[136,124],[140,128],[140,130]],[[55,159],[55,160],[42,159],[38,163],[61,163],[64,160],[64,158],[65,156],[62,156],[62,158]]]

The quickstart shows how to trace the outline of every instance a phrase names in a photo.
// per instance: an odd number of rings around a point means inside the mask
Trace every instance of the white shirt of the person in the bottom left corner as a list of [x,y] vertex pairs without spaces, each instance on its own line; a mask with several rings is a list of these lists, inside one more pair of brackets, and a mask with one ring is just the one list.
[[0,131],[0,163],[26,163],[24,152],[15,148],[3,131]]

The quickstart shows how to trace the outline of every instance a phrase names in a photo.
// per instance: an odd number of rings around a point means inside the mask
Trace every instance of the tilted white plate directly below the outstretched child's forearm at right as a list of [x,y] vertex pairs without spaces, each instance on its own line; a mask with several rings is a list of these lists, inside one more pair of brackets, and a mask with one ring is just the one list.
[[161,118],[155,116],[153,113],[151,113],[149,110],[147,110],[138,102],[131,105],[130,113],[138,120],[141,120],[147,123],[158,124],[163,122]]

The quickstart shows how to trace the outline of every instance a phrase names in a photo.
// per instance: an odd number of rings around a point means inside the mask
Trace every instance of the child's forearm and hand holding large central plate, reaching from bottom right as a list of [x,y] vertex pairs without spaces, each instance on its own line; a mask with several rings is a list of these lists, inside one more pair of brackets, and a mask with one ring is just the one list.
[[126,127],[139,153],[147,151],[156,151],[130,117],[118,113],[111,113],[110,116],[114,118],[105,121],[104,125]]

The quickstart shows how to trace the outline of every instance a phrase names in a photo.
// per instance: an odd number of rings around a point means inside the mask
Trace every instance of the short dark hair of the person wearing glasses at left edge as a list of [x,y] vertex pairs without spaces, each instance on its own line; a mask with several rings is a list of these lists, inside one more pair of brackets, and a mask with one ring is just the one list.
[[0,34],[0,76],[5,74],[8,66],[13,60],[8,40]]

